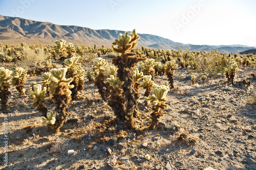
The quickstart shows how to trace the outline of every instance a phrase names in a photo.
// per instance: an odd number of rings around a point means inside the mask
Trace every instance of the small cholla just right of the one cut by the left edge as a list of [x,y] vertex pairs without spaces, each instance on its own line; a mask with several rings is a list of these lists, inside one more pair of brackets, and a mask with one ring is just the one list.
[[17,67],[15,70],[12,71],[12,80],[11,83],[13,86],[16,86],[16,89],[18,92],[25,94],[24,89],[24,82],[26,81],[26,78],[29,77],[27,75],[28,70],[23,69],[22,67]]

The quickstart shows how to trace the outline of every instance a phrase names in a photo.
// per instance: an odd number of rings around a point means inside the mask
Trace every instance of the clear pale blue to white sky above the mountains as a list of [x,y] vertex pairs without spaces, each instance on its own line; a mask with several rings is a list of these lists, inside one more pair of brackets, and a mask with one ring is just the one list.
[[154,34],[175,42],[256,46],[255,0],[0,0],[0,14]]

